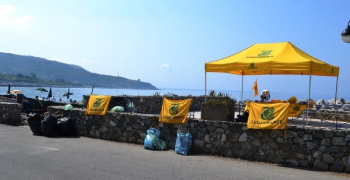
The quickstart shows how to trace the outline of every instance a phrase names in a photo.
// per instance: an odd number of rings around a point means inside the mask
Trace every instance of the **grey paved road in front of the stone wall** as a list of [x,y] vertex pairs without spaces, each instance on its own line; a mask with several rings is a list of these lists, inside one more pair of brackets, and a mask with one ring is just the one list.
[[212,156],[181,156],[87,137],[48,138],[0,124],[0,179],[349,179]]

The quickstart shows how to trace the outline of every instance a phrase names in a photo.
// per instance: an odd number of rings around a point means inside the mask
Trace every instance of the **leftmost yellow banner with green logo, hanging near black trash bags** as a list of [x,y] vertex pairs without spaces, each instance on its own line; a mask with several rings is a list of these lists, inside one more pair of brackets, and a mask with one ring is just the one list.
[[111,96],[90,95],[85,115],[106,115]]

